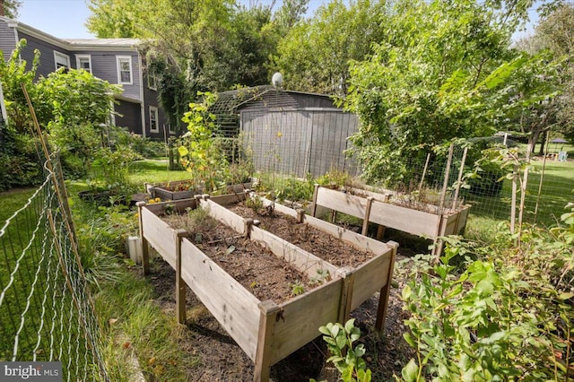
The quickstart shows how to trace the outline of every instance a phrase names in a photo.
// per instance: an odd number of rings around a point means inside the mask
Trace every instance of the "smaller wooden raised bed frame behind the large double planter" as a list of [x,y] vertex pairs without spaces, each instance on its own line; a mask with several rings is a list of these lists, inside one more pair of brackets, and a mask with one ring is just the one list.
[[335,213],[346,213],[360,218],[363,220],[362,235],[367,234],[369,222],[377,223],[379,225],[377,239],[383,237],[385,227],[432,239],[435,242],[433,254],[436,256],[442,252],[442,241],[439,238],[463,231],[471,207],[470,204],[466,204],[458,209],[440,209],[438,206],[430,205],[429,210],[435,212],[425,212],[390,204],[391,195],[388,194],[362,189],[354,191],[361,193],[361,196],[315,185],[310,214],[316,216],[317,207],[322,206]]

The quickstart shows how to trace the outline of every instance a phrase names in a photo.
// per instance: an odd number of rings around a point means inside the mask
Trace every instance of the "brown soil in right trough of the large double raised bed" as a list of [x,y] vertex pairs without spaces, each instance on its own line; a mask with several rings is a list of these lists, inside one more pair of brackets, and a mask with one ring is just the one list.
[[291,216],[279,213],[273,209],[265,209],[256,213],[243,202],[227,208],[244,218],[261,221],[259,226],[261,229],[268,230],[332,265],[355,267],[373,257],[373,254],[370,252],[351,247],[341,239],[337,239],[322,230],[317,230],[309,226],[309,224],[300,224]]

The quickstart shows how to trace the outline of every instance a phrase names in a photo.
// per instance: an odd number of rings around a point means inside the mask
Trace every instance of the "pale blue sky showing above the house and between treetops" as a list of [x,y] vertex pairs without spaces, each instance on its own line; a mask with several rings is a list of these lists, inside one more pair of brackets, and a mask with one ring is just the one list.
[[[242,0],[246,4],[269,4],[271,1]],[[277,3],[281,3],[281,0],[277,0]],[[324,3],[327,0],[310,0],[308,14],[314,13]],[[91,39],[94,36],[84,25],[89,15],[90,10],[85,0],[23,0],[19,21],[60,39]],[[517,32],[514,40],[533,33],[532,22],[538,20],[535,9],[531,10],[530,19],[531,23],[526,30]]]

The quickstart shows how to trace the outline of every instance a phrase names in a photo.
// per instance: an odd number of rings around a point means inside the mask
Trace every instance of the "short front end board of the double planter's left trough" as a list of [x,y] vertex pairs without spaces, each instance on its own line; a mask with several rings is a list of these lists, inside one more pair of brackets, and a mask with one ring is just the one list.
[[319,326],[336,322],[342,285],[337,279],[279,304],[283,312],[274,323],[272,365],[320,335]]

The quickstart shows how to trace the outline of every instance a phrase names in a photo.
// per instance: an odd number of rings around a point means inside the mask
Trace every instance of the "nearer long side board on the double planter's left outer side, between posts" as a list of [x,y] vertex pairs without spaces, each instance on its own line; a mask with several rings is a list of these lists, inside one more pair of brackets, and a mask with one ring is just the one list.
[[250,360],[257,352],[259,300],[189,240],[181,245],[181,275]]

